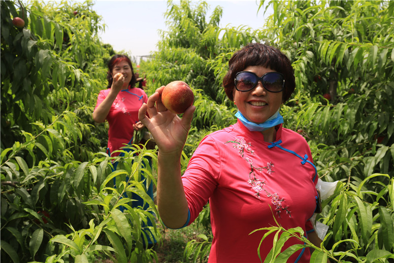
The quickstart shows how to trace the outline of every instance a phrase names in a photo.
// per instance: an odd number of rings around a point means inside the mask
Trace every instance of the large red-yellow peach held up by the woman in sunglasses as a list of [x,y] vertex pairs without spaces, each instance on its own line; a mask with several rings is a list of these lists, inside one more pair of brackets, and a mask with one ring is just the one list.
[[162,93],[162,102],[169,111],[180,114],[192,106],[194,94],[189,85],[181,80],[168,83]]

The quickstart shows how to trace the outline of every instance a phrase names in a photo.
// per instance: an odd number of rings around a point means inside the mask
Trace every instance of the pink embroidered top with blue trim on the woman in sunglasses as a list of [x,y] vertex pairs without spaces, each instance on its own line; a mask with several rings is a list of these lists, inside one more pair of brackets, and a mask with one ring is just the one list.
[[[260,262],[257,249],[265,231],[276,225],[313,231],[309,219],[316,209],[317,171],[305,139],[277,125],[276,140],[267,143],[260,132],[240,121],[206,136],[182,176],[193,222],[209,199],[213,243],[212,262]],[[261,245],[264,261],[274,234]],[[301,243],[296,238],[287,247]],[[309,249],[296,252],[289,262],[309,263]]]

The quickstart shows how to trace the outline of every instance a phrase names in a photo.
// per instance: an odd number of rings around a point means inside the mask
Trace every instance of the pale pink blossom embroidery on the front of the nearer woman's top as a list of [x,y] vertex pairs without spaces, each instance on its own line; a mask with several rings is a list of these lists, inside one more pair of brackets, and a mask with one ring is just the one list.
[[283,207],[282,203],[285,201],[284,198],[280,198],[279,195],[277,193],[273,193],[271,194],[270,192],[268,192],[265,188],[264,185],[266,185],[265,181],[261,181],[260,179],[256,178],[256,173],[255,171],[266,171],[266,173],[268,175],[271,175],[272,173],[274,173],[275,171],[273,171],[273,167],[275,167],[275,165],[269,161],[267,162],[267,166],[265,167],[255,167],[253,166],[253,160],[250,157],[244,157],[244,153],[245,150],[250,152],[252,155],[254,155],[255,151],[252,150],[252,144],[251,143],[246,143],[244,138],[239,139],[235,139],[234,141],[228,141],[227,143],[235,143],[234,145],[232,145],[232,148],[238,150],[238,153],[241,157],[243,157],[244,160],[246,160],[249,165],[250,165],[250,173],[249,173],[249,180],[247,181],[248,184],[251,186],[251,188],[255,191],[254,195],[257,198],[261,198],[260,193],[263,191],[265,192],[267,197],[271,197],[271,202],[273,205],[275,205],[275,211],[276,214],[280,217],[280,213],[282,212],[282,210],[286,211],[286,214],[289,215],[289,217],[292,217],[291,212],[288,210],[288,206]]

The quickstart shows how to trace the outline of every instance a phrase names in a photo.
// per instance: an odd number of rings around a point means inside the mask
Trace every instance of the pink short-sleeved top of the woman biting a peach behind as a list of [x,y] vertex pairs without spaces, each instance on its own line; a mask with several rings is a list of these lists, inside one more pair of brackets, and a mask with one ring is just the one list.
[[[109,91],[110,89],[100,91],[96,108],[108,96]],[[147,101],[148,96],[140,88],[123,89],[118,93],[107,115],[109,124],[108,154],[111,154],[114,150],[119,150],[125,144],[132,143],[134,132],[132,124],[139,121],[138,110]],[[111,155],[119,155],[119,153]]]

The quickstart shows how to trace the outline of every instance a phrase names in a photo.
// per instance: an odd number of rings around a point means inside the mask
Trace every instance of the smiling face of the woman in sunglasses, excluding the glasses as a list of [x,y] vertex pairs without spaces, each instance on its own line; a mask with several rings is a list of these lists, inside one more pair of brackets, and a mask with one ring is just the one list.
[[[249,66],[243,71],[253,72],[259,77],[268,72],[275,72],[263,66]],[[250,91],[241,92],[233,89],[233,97],[238,110],[249,121],[260,124],[278,111],[282,105],[283,91],[267,91],[261,81]]]

